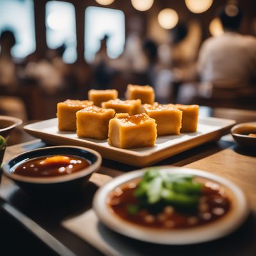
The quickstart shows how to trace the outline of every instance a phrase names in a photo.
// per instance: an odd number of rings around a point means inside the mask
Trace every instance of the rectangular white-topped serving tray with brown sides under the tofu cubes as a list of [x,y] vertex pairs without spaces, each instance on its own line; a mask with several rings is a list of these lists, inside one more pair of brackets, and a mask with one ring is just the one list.
[[236,124],[234,120],[203,117],[198,119],[197,132],[159,136],[154,147],[131,149],[112,147],[108,144],[108,140],[78,138],[76,132],[60,132],[57,118],[26,125],[24,130],[52,145],[88,147],[97,150],[107,159],[132,166],[148,166],[208,141],[219,140],[234,124]]

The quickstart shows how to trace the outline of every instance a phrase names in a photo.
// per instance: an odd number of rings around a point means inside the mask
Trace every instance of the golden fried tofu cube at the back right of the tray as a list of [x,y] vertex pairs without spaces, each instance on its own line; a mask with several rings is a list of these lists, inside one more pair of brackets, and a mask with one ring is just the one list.
[[154,88],[149,85],[127,85],[127,99],[140,99],[142,104],[153,104],[155,101]]

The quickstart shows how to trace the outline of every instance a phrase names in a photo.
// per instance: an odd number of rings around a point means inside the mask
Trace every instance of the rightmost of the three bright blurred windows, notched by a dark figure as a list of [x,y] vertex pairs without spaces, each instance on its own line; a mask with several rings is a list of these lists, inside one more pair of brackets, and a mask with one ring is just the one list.
[[108,56],[117,58],[124,51],[125,17],[121,10],[89,6],[85,10],[84,57],[92,62],[100,40],[108,35]]

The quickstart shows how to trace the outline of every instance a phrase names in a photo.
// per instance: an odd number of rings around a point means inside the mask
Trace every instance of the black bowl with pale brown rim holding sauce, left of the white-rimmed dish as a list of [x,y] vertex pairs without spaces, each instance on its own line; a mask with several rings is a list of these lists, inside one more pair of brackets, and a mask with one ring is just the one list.
[[[24,163],[24,161],[36,157],[54,155],[83,157],[92,164],[77,172],[55,177],[29,177],[12,173],[12,168],[16,164]],[[3,173],[29,195],[58,197],[81,191],[86,186],[92,173],[99,169],[101,162],[102,157],[100,154],[89,148],[75,146],[45,147],[25,152],[8,161],[3,165]]]

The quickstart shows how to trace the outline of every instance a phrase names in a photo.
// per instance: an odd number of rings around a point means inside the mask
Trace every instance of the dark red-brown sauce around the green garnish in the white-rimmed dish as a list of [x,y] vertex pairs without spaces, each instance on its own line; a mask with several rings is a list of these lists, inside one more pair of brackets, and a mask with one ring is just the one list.
[[161,229],[198,227],[223,218],[230,210],[230,200],[223,195],[223,189],[220,189],[218,184],[205,182],[197,211],[194,213],[179,212],[168,205],[157,213],[140,209],[135,214],[131,214],[127,211],[129,205],[138,205],[138,199],[134,196],[135,190],[134,182],[116,188],[109,195],[108,205],[120,218],[144,227]]

